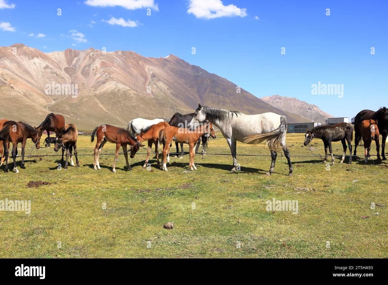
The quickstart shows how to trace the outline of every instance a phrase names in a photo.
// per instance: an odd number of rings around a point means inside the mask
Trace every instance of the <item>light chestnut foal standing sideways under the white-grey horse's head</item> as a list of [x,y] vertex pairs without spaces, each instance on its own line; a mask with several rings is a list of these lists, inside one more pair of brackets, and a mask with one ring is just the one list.
[[198,143],[198,139],[204,134],[210,134],[212,138],[216,138],[213,125],[211,123],[201,124],[194,131],[188,128],[168,127],[160,131],[159,141],[163,143],[163,158],[162,158],[162,170],[167,171],[166,156],[168,154],[168,162],[170,157],[170,143],[172,141],[179,143],[187,143],[190,147],[189,154],[189,166],[191,170],[197,169],[194,164],[194,146]]

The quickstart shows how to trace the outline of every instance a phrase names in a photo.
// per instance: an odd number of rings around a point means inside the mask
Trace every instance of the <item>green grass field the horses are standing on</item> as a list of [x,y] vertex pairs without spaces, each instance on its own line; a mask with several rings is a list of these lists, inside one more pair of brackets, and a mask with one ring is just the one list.
[[[230,154],[217,135],[208,153]],[[303,140],[288,134],[291,155],[311,155]],[[322,141],[313,143],[313,153],[323,154]],[[56,154],[32,145],[29,140],[26,155]],[[93,148],[90,136],[79,136],[79,154]],[[341,143],[333,150],[342,154]],[[107,143],[102,153],[112,152]],[[237,154],[251,153],[269,151],[237,143]],[[189,170],[188,155],[171,157],[168,172],[156,168],[155,159],[151,171],[142,168],[145,155],[139,154],[126,171],[120,155],[116,174],[112,155],[100,157],[99,171],[92,169],[93,156],[80,156],[81,167],[67,171],[57,170],[59,159],[26,157],[18,174],[0,168],[0,200],[31,200],[31,214],[0,211],[0,257],[388,257],[386,162],[364,165],[362,156],[348,165],[348,158],[340,164],[337,157],[327,170],[319,157],[292,157],[289,177],[280,154],[272,176],[265,175],[270,157],[237,157],[237,174],[229,174],[230,155],[196,155],[196,171]],[[39,180],[49,185],[27,186]],[[266,211],[273,198],[298,200],[298,214]],[[372,210],[371,202],[379,206]],[[163,228],[169,221],[172,230]]]

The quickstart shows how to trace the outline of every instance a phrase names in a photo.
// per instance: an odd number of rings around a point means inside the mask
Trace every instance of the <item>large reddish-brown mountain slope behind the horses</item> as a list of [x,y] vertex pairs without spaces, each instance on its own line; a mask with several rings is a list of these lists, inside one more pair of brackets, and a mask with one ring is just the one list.
[[198,103],[246,114],[275,112],[290,123],[307,120],[243,89],[237,93],[236,84],[175,55],[151,58],[94,48],[43,53],[23,44],[0,47],[0,96],[7,106],[2,118],[40,124],[54,112],[80,129],[171,117],[193,112]]

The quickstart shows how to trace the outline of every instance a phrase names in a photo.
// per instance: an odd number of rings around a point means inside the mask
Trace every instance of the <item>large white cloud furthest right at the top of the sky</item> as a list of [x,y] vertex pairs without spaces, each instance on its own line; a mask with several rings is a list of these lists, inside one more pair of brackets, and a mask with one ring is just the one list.
[[187,13],[197,18],[214,19],[219,17],[245,17],[246,8],[238,8],[236,5],[223,5],[221,0],[189,0]]

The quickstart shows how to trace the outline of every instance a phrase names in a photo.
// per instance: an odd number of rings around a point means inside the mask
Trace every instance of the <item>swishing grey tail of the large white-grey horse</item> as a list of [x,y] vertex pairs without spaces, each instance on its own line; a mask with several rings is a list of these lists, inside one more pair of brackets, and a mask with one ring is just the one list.
[[286,117],[281,116],[280,126],[278,128],[276,128],[275,130],[269,133],[247,136],[244,142],[245,143],[254,142],[253,144],[265,142],[268,145],[268,148],[270,150],[284,149],[287,146],[281,145],[281,140],[282,140],[283,134],[286,133],[286,130],[287,130],[287,119]]

